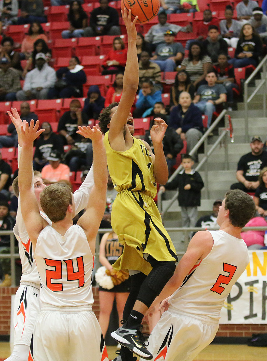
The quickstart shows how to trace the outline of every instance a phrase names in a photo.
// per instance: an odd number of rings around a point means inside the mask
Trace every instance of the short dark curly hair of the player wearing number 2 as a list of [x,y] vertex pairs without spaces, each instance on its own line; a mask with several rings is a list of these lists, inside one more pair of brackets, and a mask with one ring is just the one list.
[[229,210],[229,221],[235,227],[244,227],[256,212],[254,200],[240,189],[225,194],[225,209]]

